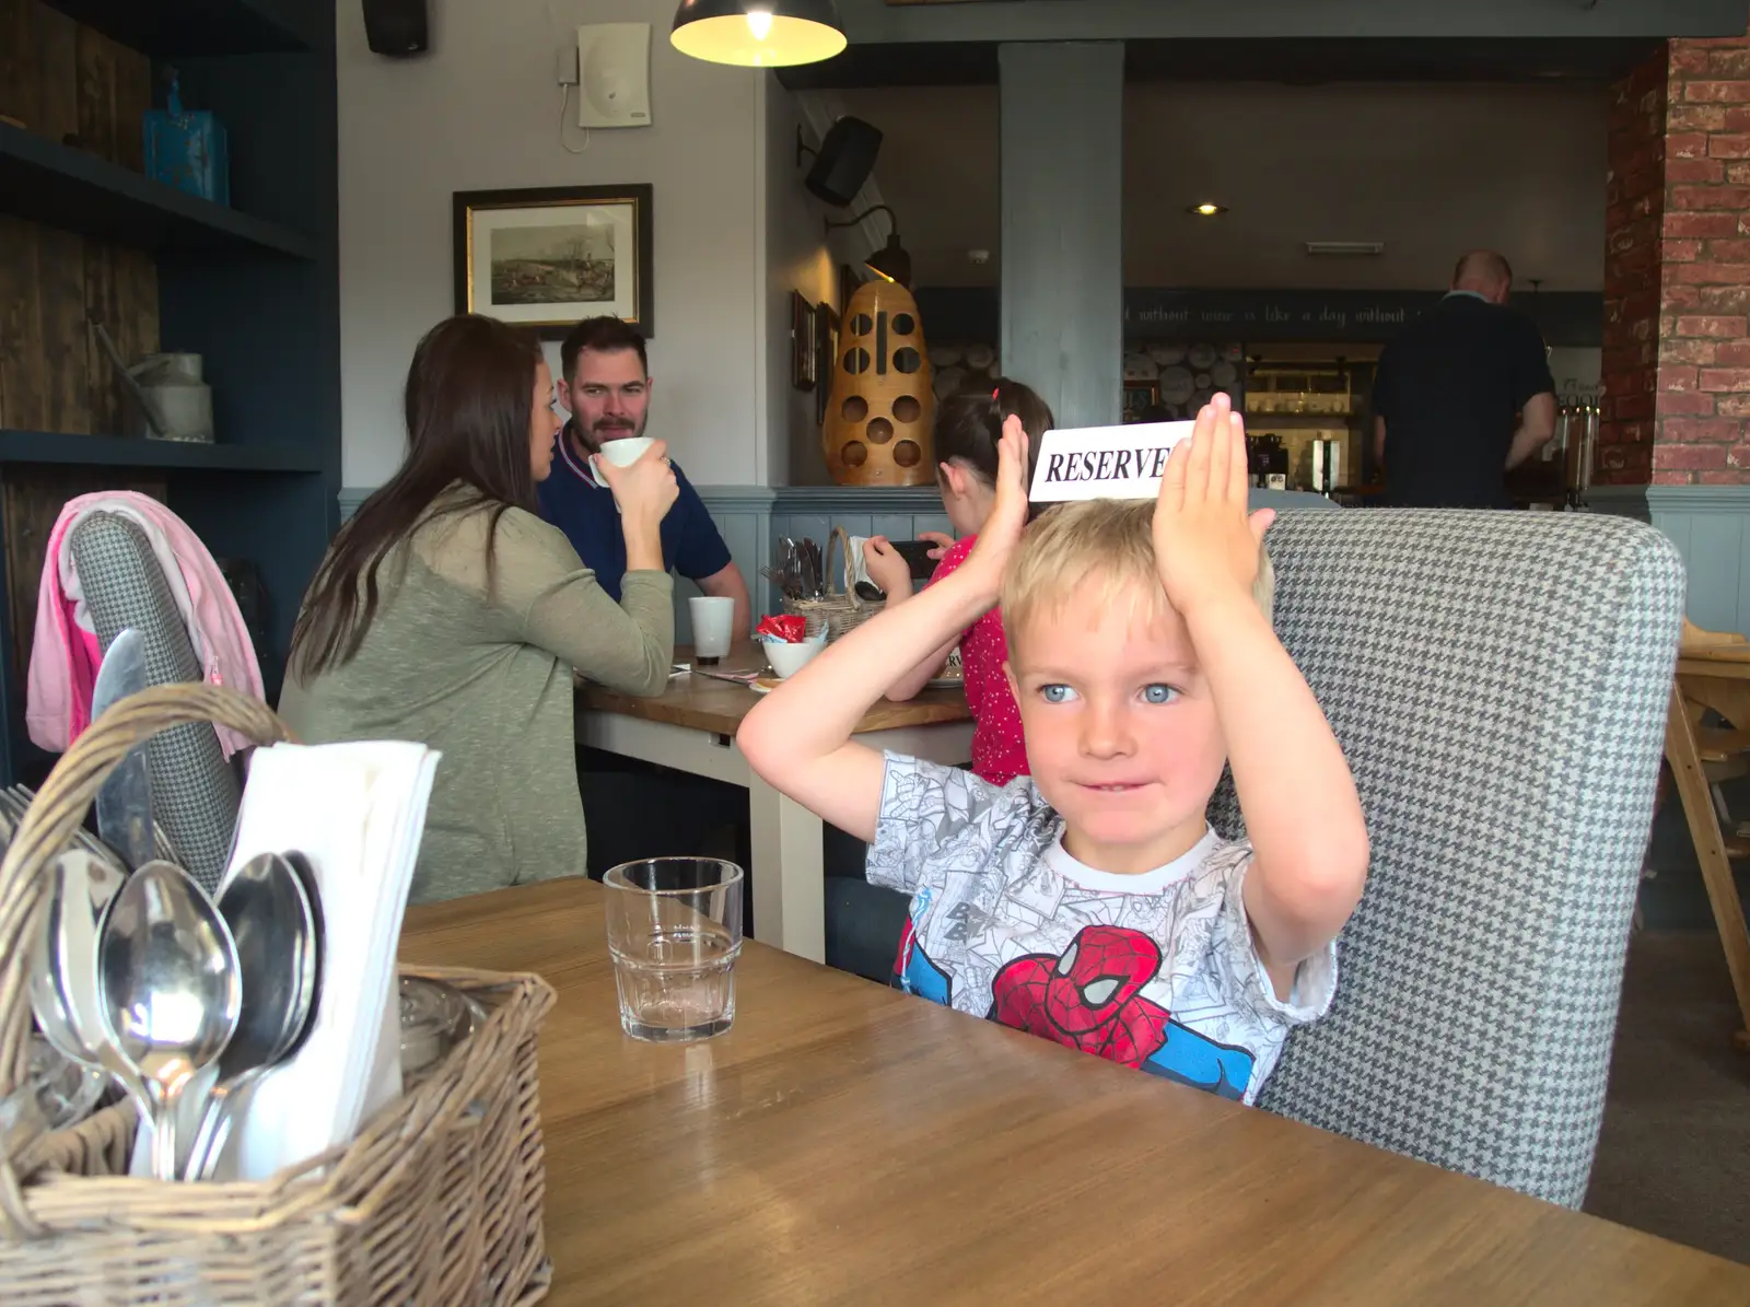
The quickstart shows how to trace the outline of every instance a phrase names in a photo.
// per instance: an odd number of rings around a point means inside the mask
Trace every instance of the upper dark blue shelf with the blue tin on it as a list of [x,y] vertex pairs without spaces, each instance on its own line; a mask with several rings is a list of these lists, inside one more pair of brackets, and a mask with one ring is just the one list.
[[196,199],[5,122],[0,122],[0,208],[154,254],[317,257],[315,241],[296,231]]

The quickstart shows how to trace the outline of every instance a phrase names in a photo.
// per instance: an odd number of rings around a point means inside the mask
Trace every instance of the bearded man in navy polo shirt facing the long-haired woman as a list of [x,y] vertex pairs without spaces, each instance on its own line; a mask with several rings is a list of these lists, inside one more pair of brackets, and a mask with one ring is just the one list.
[[[618,602],[626,541],[614,492],[597,479],[590,455],[607,441],[644,434],[651,402],[644,334],[614,317],[584,318],[560,346],[560,369],[558,394],[570,422],[558,434],[553,474],[541,483],[541,514],[570,537],[578,556]],[[732,630],[747,639],[752,626],[747,581],[679,464],[674,479],[681,497],[662,521],[663,562],[704,593],[733,598]]]

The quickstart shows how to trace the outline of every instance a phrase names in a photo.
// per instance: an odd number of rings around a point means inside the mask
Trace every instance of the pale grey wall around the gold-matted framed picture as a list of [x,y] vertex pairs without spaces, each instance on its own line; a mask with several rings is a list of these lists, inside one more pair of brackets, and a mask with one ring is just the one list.
[[[413,59],[371,54],[359,0],[336,7],[345,485],[382,485],[401,462],[413,346],[453,311],[452,192],[625,182],[654,187],[649,430],[695,483],[766,483],[761,98],[770,73],[677,54],[668,45],[674,0],[427,7],[432,49]],[[555,49],[584,21],[651,24],[653,124],[593,131],[574,156],[558,138]],[[576,147],[583,133],[569,126],[567,140]],[[556,371],[556,346],[550,360]]]

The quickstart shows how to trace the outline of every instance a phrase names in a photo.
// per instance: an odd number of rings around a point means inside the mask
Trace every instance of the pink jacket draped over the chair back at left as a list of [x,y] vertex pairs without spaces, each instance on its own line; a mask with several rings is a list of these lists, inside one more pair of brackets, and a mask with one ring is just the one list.
[[[49,532],[42,583],[37,588],[37,633],[30,646],[24,705],[24,726],[37,747],[65,752],[91,724],[91,688],[103,651],[98,649],[91,614],[86,611],[68,537],[82,518],[100,511],[128,518],[145,532],[206,682],[264,698],[261,667],[256,663],[243,614],[206,546],[156,499],[130,490],[100,490],[66,500]],[[224,726],[217,731],[226,756],[250,745],[250,740]]]

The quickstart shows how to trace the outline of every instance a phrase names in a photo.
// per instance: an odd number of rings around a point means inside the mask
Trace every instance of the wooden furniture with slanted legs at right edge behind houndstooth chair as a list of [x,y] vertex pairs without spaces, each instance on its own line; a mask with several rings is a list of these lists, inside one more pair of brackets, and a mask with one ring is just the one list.
[[[1706,639],[1704,639],[1706,637]],[[1676,656],[1676,681],[1671,686],[1671,710],[1666,719],[1664,756],[1671,763],[1676,793],[1689,821],[1689,838],[1701,863],[1701,880],[1713,908],[1713,924],[1726,948],[1726,966],[1738,996],[1743,1027],[1736,1034],[1740,1048],[1750,1052],[1750,926],[1732,880],[1726,833],[1713,810],[1713,796],[1701,766],[1696,731],[1701,714],[1713,709],[1738,730],[1750,731],[1750,644],[1722,642],[1708,632],[1685,630]]]

